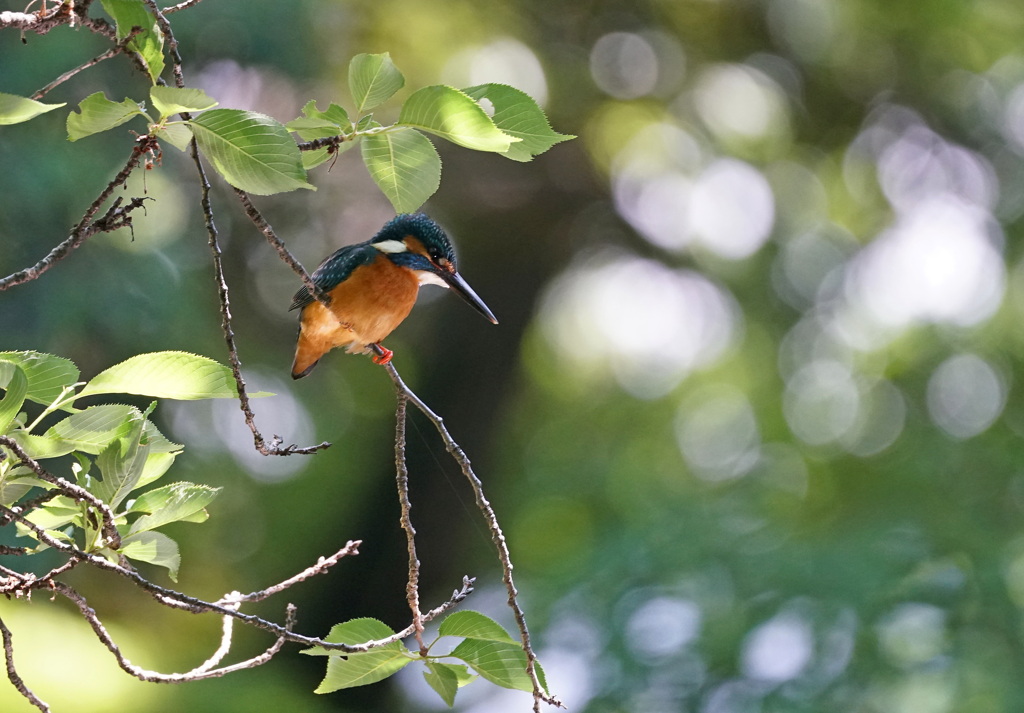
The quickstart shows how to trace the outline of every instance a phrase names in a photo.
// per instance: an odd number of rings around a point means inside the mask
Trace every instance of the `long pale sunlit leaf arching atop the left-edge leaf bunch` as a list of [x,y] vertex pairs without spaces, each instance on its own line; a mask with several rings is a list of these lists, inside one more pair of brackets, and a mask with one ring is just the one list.
[[180,401],[239,395],[230,369],[185,351],[154,351],[116,364],[94,376],[79,396],[96,393],[136,393]]

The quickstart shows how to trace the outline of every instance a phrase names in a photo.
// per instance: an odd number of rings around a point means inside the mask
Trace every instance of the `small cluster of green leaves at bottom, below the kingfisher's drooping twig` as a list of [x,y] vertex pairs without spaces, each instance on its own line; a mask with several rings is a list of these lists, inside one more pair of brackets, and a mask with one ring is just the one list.
[[[379,641],[393,636],[394,632],[376,619],[353,619],[331,629],[326,641],[331,643],[359,644]],[[458,644],[444,654],[434,648],[445,637],[461,638]],[[502,626],[479,612],[456,612],[440,623],[436,638],[426,653],[412,652],[401,641],[371,648],[361,654],[343,654],[321,646],[307,648],[304,654],[328,656],[327,675],[316,688],[317,694],[329,694],[341,688],[376,683],[398,672],[413,662],[426,666],[424,678],[430,687],[449,706],[455,705],[459,688],[477,676],[505,688],[534,690],[534,683],[526,675],[526,655],[522,646]],[[453,660],[455,663],[443,661]],[[538,678],[547,687],[544,671],[538,664]]]

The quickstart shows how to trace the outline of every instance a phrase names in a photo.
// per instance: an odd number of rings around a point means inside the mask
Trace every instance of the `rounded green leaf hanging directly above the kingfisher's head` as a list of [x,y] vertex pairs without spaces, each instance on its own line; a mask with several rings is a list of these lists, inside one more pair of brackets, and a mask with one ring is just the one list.
[[419,131],[365,136],[362,162],[398,213],[416,211],[440,185],[441,159]]

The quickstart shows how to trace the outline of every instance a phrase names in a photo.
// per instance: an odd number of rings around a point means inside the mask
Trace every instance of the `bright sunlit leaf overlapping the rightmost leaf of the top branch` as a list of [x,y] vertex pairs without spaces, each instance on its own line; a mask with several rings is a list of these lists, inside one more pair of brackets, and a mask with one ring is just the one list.
[[406,99],[397,125],[436,134],[467,149],[499,154],[519,140],[495,126],[468,94],[440,84],[423,87]]

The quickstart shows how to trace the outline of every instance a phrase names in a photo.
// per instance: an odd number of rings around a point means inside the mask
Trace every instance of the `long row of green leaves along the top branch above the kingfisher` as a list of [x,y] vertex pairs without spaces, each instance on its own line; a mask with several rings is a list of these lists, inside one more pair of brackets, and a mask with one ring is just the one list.
[[[440,185],[440,157],[426,134],[513,161],[529,161],[572,138],[552,130],[544,111],[528,94],[504,84],[466,89],[440,84],[423,87],[406,98],[397,121],[384,125],[371,110],[406,84],[386,52],[358,54],[349,64],[354,118],[333,102],[322,112],[314,100],[303,108],[303,116],[287,125],[257,112],[213,109],[218,102],[199,89],[160,84],[164,38],[141,0],[102,0],[102,5],[117,25],[119,40],[136,33],[128,48],[141,57],[155,84],[148,99],[156,117],[136,100],[113,101],[96,92],[68,117],[68,138],[76,141],[141,117],[147,122],[150,136],[181,151],[195,137],[228,183],[252,194],[314,190],[306,171],[358,143],[367,170],[394,209],[411,212]],[[0,94],[0,125],[29,121],[63,106]],[[189,118],[172,120],[177,115]],[[330,146],[302,152],[290,132],[304,141],[336,140]]]

